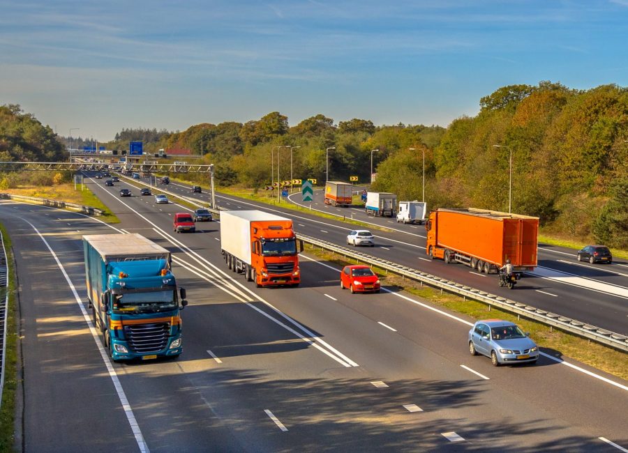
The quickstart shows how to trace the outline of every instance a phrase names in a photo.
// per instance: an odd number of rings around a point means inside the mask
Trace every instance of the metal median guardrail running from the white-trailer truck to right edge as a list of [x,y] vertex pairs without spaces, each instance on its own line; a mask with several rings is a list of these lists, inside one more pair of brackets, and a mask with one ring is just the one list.
[[531,305],[527,305],[522,302],[516,302],[515,300],[502,298],[498,295],[486,293],[485,291],[479,291],[479,289],[474,289],[470,286],[452,282],[451,280],[437,277],[426,272],[421,272],[416,269],[408,268],[406,266],[402,266],[401,264],[393,263],[392,261],[387,261],[366,253],[358,252],[357,250],[350,249],[348,247],[342,247],[340,245],[329,243],[326,240],[311,238],[301,234],[298,234],[297,237],[308,244],[321,247],[322,249],[329,250],[330,252],[335,252],[343,256],[350,256],[353,259],[377,266],[378,268],[402,275],[403,277],[423,282],[424,284],[440,288],[449,293],[462,295],[463,298],[470,298],[472,300],[483,302],[487,305],[494,305],[495,307],[500,307],[500,309],[506,312],[534,319],[534,321],[551,325],[552,327],[564,330],[565,332],[578,335],[578,337],[591,339],[597,343],[606,344],[619,349],[620,351],[628,352],[628,337],[625,335],[610,332],[608,330],[598,328],[595,325],[590,325],[588,323],[577,321],[576,319],[561,316],[560,314],[546,312],[545,310],[532,307]]

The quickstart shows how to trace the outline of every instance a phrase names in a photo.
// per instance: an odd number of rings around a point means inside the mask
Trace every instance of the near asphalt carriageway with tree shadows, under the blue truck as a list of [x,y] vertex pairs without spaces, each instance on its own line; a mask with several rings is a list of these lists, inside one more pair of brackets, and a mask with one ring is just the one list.
[[[176,234],[182,206],[87,183],[121,224],[0,203],[20,277],[27,452],[628,447],[625,381],[560,351],[494,368],[468,353],[471,319],[402,293],[351,295],[307,254],[299,288],[257,289],[227,270],[216,222]],[[190,302],[179,360],[111,364],[99,351],[80,238],[115,230],[174,253]]]

